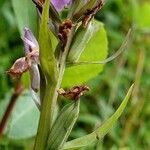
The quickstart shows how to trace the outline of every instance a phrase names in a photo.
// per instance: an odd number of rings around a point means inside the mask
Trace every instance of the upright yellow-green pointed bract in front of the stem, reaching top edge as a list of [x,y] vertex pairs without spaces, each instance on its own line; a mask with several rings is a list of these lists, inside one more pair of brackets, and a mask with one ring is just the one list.
[[52,49],[51,35],[52,32],[48,27],[49,21],[49,0],[46,0],[43,7],[40,31],[39,31],[39,45],[40,45],[40,62],[41,68],[47,79],[54,81],[57,78],[56,60]]

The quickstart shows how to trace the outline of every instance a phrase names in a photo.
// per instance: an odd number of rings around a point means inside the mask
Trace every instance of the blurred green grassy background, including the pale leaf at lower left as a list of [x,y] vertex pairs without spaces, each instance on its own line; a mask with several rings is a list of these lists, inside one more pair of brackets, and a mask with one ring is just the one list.
[[[107,0],[96,16],[105,24],[109,55],[119,47],[131,27],[133,35],[128,50],[106,64],[103,72],[88,82],[92,90],[82,98],[80,117],[70,139],[90,133],[117,109],[133,82],[135,88],[130,103],[116,125],[102,141],[85,150],[150,149],[149,14],[149,0]],[[10,0],[0,0],[0,119],[14,87],[14,81],[6,71],[22,55],[23,44],[12,3]],[[39,114],[33,108],[29,95],[25,91],[19,98],[5,136],[0,139],[0,150],[28,150],[32,147]],[[19,114],[22,109],[25,111]],[[33,119],[35,116],[36,119]]]

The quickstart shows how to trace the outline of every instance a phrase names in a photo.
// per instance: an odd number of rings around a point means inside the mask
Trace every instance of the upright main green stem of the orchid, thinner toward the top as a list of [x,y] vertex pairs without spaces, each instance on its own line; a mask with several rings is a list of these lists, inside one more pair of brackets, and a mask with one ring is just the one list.
[[62,78],[66,67],[66,58],[72,41],[73,33],[74,29],[72,29],[68,37],[69,40],[59,62],[60,69],[57,81],[51,84],[48,83],[48,85],[46,86],[45,95],[42,100],[41,115],[34,150],[45,150],[48,135],[53,123],[54,109],[56,107],[58,98],[57,90],[61,86]]

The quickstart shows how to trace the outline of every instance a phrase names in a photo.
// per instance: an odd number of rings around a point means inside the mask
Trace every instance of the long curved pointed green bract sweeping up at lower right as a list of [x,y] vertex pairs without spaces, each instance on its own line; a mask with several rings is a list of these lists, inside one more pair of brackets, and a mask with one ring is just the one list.
[[104,122],[99,128],[97,128],[94,132],[91,134],[88,134],[86,136],[83,136],[81,138],[69,141],[65,144],[63,147],[63,150],[66,149],[79,149],[81,147],[85,147],[88,145],[91,145],[95,143],[96,141],[101,140],[110,130],[110,128],[116,123],[122,112],[124,111],[127,102],[131,96],[133,90],[133,85],[130,87],[125,99],[119,106],[119,108],[116,110],[116,112],[108,119],[106,122]]

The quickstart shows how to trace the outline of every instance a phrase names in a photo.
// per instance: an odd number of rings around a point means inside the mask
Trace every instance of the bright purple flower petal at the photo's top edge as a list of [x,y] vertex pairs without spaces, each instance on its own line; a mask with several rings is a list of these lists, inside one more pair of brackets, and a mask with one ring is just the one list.
[[51,0],[52,4],[57,11],[61,11],[66,5],[68,5],[72,0]]

